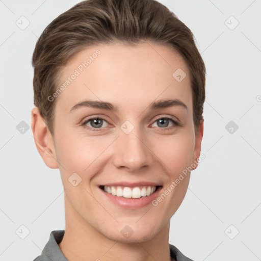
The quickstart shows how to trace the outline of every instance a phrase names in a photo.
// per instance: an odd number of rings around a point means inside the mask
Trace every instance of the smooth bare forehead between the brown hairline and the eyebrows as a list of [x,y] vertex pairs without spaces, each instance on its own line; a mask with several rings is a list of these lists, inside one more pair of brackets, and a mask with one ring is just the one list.
[[57,103],[66,111],[84,99],[126,108],[177,98],[192,107],[189,68],[168,45],[145,42],[87,47],[67,62],[59,81],[65,88]]

